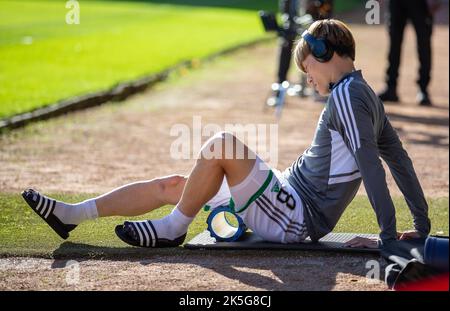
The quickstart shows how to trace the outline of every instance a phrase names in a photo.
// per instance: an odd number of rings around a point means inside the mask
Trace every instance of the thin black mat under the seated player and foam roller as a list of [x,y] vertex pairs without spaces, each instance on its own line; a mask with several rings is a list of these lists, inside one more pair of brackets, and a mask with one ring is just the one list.
[[184,245],[187,249],[280,249],[280,250],[320,250],[330,252],[357,252],[357,253],[379,253],[379,249],[346,247],[344,244],[352,238],[378,237],[376,234],[359,233],[329,233],[317,243],[306,239],[303,243],[281,244],[266,242],[252,232],[246,232],[244,236],[236,242],[216,242],[216,239],[209,235],[208,231],[195,236]]

